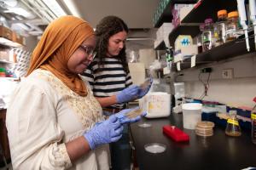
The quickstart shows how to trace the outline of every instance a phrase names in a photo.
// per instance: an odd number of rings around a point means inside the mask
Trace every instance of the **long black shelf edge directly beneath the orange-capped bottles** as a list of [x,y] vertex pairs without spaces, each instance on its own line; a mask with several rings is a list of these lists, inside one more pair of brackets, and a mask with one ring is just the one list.
[[[251,36],[249,38],[251,50],[247,52],[246,42],[244,37],[240,37],[232,42],[226,42],[223,45],[212,48],[206,52],[196,55],[195,65],[202,65],[207,63],[212,63],[215,61],[220,61],[224,59],[230,59],[242,54],[254,54],[255,55],[255,46],[254,38]],[[184,59],[181,63],[181,70],[190,68],[191,59]],[[177,71],[176,64],[174,65],[174,70]]]

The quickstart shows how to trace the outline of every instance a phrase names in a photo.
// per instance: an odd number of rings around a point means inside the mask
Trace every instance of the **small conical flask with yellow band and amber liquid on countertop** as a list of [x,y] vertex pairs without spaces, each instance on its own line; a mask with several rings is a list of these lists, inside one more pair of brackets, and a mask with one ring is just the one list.
[[236,111],[230,111],[230,118],[227,121],[225,133],[229,136],[241,136],[241,127],[236,118]]

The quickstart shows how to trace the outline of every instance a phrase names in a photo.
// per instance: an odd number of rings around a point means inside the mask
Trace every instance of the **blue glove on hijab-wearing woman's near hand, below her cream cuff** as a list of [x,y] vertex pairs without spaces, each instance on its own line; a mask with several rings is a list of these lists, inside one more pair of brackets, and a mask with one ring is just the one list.
[[122,137],[124,127],[117,116],[109,116],[108,120],[96,123],[89,132],[84,133],[90,149],[94,150],[100,144],[115,142]]

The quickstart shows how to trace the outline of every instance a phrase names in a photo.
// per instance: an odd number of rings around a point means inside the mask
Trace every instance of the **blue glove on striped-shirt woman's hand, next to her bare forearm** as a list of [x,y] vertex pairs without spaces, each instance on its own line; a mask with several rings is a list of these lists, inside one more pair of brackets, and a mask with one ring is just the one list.
[[117,102],[121,104],[121,103],[131,101],[133,99],[137,99],[137,94],[139,89],[140,88],[135,85],[132,85],[129,88],[123,89],[121,92],[119,92],[119,94],[116,95]]

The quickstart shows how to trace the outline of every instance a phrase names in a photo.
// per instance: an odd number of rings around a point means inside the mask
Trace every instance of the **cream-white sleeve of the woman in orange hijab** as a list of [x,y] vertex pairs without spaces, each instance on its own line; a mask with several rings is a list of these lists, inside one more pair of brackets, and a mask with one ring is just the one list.
[[[35,83],[22,83],[13,94],[6,117],[14,169],[67,169],[72,166],[56,104]],[[54,94],[52,94],[54,96]]]

